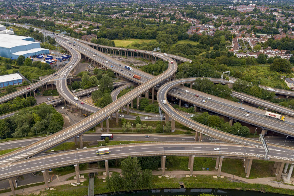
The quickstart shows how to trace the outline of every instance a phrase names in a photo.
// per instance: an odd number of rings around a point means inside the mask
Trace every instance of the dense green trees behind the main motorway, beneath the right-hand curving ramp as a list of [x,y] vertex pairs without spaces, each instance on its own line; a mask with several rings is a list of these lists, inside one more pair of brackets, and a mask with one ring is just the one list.
[[214,85],[213,82],[207,78],[197,78],[193,83],[193,88],[222,98],[228,98],[232,93],[228,85]]

